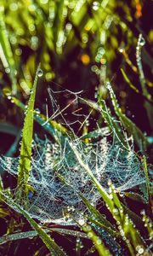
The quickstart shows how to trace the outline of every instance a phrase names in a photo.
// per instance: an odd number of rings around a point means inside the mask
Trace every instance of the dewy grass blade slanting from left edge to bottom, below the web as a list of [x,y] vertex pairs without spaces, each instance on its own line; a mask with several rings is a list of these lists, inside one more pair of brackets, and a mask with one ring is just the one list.
[[28,212],[26,212],[22,207],[20,207],[20,205],[16,203],[11,197],[9,197],[8,195],[5,195],[3,191],[0,191],[0,195],[2,196],[3,201],[8,205],[8,207],[16,209],[26,218],[29,224],[31,224],[31,227],[37,231],[38,236],[40,236],[44,244],[48,247],[51,255],[53,256],[66,255],[63,249],[60,248],[50,236],[48,236],[45,230],[42,230],[42,228],[37,224],[37,222],[31,218]]

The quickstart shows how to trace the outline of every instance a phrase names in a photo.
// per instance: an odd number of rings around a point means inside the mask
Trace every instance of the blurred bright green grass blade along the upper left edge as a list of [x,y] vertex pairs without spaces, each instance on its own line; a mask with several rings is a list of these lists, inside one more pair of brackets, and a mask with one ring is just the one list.
[[3,62],[3,67],[12,81],[12,94],[17,92],[16,78],[15,78],[15,63],[14,56],[8,40],[8,32],[3,20],[3,9],[0,9],[0,58]]

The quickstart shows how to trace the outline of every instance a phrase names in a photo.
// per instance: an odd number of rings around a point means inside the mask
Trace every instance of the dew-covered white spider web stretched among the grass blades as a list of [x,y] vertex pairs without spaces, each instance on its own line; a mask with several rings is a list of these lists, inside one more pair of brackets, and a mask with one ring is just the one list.
[[[72,93],[69,90],[63,91],[71,94],[71,101],[77,103],[79,93]],[[94,187],[88,173],[78,163],[76,154],[71,149],[70,143],[77,148],[82,155],[83,162],[89,166],[94,177],[106,189],[109,189],[108,181],[114,184],[117,191],[131,189],[140,183],[144,183],[144,172],[141,163],[133,147],[122,148],[122,145],[114,141],[109,143],[107,137],[101,137],[96,143],[87,143],[75,135],[71,123],[66,121],[66,110],[71,106],[59,108],[56,102],[56,95],[61,91],[49,90],[54,113],[48,117],[56,119],[66,125],[72,131],[72,137],[59,135],[58,142],[53,143],[46,137],[41,140],[34,137],[32,143],[33,154],[31,157],[31,172],[29,176],[30,192],[27,198],[27,212],[32,218],[37,218],[42,223],[54,224],[75,224],[73,218],[78,218],[78,212],[86,212],[79,193],[94,206],[100,199],[99,192]],[[72,103],[73,103],[72,102]],[[76,113],[76,111],[74,110]],[[90,114],[82,115],[84,123],[90,118]],[[46,125],[44,123],[44,125]],[[81,126],[80,126],[81,127]],[[82,128],[82,127],[81,127]],[[80,128],[79,128],[80,129]],[[0,165],[10,174],[17,176],[19,158],[1,157]],[[69,216],[69,211],[73,218]],[[76,217],[75,217],[76,216]]]

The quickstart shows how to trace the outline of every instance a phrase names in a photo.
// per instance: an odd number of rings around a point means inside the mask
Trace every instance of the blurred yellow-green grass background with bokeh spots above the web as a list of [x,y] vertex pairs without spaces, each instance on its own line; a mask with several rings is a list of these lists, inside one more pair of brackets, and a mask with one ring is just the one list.
[[[107,100],[105,81],[109,79],[122,112],[152,136],[147,110],[151,108],[153,90],[152,5],[150,0],[1,0],[0,139],[5,145],[0,153],[6,153],[24,119],[22,110],[10,101],[11,96],[27,102],[39,62],[43,76],[37,88],[36,108],[42,113],[46,113],[49,101],[48,87],[83,90],[82,96],[91,100],[99,90],[100,97]],[[139,33],[145,39],[145,95],[136,61]],[[69,100],[60,94],[59,102],[65,105]]]

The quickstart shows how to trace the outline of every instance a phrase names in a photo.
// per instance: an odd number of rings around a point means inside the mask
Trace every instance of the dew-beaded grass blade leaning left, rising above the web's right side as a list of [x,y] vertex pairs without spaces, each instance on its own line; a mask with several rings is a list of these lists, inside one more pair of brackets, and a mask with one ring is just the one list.
[[137,143],[137,145],[139,146],[140,150],[145,151],[147,148],[148,142],[146,137],[144,137],[143,132],[140,131],[139,127],[137,127],[137,125],[135,125],[130,119],[127,118],[125,114],[122,113],[122,109],[119,107],[119,104],[116,100],[115,93],[112,90],[110,83],[107,83],[107,89],[110,91],[111,101],[112,101],[114,110],[118,118],[121,120],[122,125],[126,128],[129,134],[133,136],[133,139],[135,140],[135,143]]

